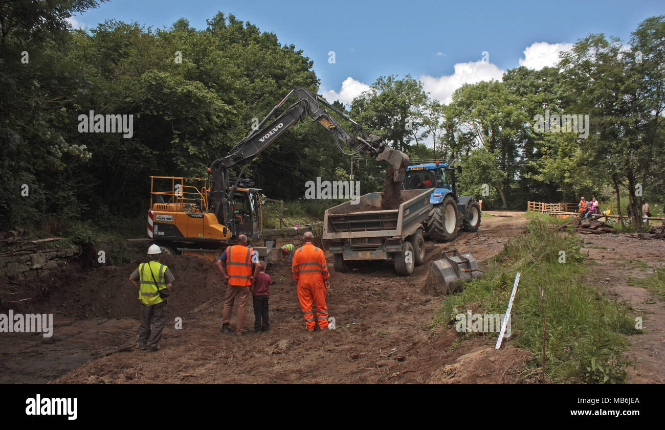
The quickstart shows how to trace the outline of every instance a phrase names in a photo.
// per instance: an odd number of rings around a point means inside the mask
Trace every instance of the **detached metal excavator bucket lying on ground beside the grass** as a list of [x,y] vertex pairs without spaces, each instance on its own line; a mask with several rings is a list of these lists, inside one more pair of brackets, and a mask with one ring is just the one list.
[[446,249],[443,259],[431,261],[424,294],[440,296],[462,290],[462,282],[483,276],[478,261],[470,253],[460,254],[457,249]]

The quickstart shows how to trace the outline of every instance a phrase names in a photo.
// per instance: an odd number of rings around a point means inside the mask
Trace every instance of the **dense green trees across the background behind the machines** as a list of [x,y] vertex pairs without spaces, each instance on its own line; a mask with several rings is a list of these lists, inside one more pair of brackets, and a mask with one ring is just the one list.
[[[217,13],[205,29],[186,19],[168,29],[118,21],[71,29],[67,17],[98,3],[0,0],[0,230],[58,233],[78,221],[112,227],[143,217],[150,175],[204,177],[293,86],[318,89],[302,51],[234,15]],[[448,106],[411,76],[381,76],[348,113],[415,161],[462,163],[462,191],[487,206],[637,185],[660,200],[664,19],[644,21],[630,45],[589,35],[557,68],[462,86]],[[589,136],[535,131],[546,110],[588,114]],[[81,132],[90,111],[132,115],[131,137]],[[301,122],[243,175],[268,197],[294,200],[306,181],[350,179],[351,167],[362,193],[382,183],[384,166],[340,154],[324,128]]]

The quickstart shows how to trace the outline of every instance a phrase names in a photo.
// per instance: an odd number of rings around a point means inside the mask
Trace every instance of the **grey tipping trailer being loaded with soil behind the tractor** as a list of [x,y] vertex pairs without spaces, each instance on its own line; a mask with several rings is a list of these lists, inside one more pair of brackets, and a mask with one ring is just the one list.
[[400,191],[400,207],[381,210],[383,193],[368,193],[325,211],[323,240],[334,269],[347,272],[354,261],[387,260],[398,274],[411,274],[425,260],[423,221],[431,190]]

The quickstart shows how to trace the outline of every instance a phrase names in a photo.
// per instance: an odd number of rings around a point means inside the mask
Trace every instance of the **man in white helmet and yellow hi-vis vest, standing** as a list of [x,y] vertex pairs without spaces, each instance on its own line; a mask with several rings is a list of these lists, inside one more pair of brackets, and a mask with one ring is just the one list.
[[[140,350],[155,352],[166,324],[166,304],[168,297],[162,298],[165,290],[171,292],[174,276],[171,270],[160,263],[162,249],[158,245],[148,248],[148,263],[142,263],[132,272],[129,279],[138,289],[141,301],[141,322],[138,327],[138,346]],[[160,295],[160,290],[162,294]],[[166,294],[168,296],[168,294]]]

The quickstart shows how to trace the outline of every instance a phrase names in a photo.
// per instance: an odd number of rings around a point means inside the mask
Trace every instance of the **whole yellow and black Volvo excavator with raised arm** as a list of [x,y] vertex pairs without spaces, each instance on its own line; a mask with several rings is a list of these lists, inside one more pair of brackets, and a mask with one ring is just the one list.
[[[271,120],[294,95],[297,100]],[[354,124],[354,132],[344,130],[326,108]],[[296,86],[227,156],[213,161],[207,169],[208,178],[150,177],[148,237],[163,248],[209,260],[233,245],[238,235],[246,235],[256,245],[263,229],[261,200],[259,189],[242,177],[243,171],[247,163],[300,120],[319,122],[327,128],[343,154],[372,154],[376,160],[388,161],[394,167],[394,181],[404,179],[406,154],[387,149],[387,142],[368,135],[360,124],[323,97]],[[351,149],[349,153],[344,151],[342,142]],[[238,166],[239,173],[231,176],[231,168]],[[264,247],[255,249],[259,255],[267,252]]]

